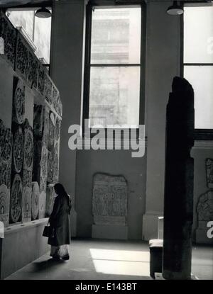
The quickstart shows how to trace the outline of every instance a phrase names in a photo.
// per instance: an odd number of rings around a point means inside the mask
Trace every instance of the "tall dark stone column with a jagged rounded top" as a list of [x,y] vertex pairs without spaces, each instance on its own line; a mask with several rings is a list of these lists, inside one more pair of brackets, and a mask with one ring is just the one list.
[[187,80],[173,79],[167,106],[163,278],[190,279],[192,259],[194,91]]

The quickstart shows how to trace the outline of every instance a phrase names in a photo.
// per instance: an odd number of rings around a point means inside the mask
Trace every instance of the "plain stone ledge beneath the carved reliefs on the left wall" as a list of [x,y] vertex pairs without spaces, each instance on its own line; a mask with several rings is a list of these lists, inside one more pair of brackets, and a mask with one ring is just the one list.
[[0,278],[4,279],[50,250],[48,238],[42,236],[48,218],[12,225],[0,238]]

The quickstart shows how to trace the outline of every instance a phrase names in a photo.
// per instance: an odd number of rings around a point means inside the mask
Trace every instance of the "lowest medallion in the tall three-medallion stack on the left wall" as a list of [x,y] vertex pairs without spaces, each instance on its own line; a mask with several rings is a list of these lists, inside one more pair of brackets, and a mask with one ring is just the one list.
[[22,183],[21,177],[16,174],[11,188],[11,221],[18,222],[21,215]]

